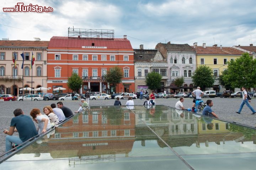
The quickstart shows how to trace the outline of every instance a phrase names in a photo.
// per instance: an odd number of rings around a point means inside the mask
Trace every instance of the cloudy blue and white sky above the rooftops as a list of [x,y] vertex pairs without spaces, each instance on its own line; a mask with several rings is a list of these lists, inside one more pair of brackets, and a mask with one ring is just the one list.
[[[18,2],[53,12],[3,12]],[[0,40],[50,40],[68,36],[73,26],[113,29],[115,38],[127,35],[134,49],[168,41],[256,46],[256,5],[254,0],[1,0]]]

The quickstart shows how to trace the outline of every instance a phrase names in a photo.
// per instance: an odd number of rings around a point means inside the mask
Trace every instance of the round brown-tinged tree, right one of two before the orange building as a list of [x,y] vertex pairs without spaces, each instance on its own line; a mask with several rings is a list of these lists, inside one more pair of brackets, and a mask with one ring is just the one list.
[[114,92],[116,92],[116,85],[122,82],[123,77],[124,73],[122,69],[117,66],[107,70],[106,80],[109,84],[113,84]]

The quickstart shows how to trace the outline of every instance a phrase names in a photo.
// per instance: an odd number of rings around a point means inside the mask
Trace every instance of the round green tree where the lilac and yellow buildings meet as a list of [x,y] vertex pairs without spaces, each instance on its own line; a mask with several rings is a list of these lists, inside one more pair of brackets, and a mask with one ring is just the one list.
[[192,75],[194,86],[201,87],[202,90],[205,87],[212,87],[215,81],[213,69],[209,66],[199,66]]

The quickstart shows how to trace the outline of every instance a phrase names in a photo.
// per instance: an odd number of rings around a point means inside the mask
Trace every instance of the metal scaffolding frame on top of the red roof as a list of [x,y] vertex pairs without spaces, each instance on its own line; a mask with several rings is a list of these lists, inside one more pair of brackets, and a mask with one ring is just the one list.
[[68,38],[73,39],[114,39],[114,30],[68,28]]

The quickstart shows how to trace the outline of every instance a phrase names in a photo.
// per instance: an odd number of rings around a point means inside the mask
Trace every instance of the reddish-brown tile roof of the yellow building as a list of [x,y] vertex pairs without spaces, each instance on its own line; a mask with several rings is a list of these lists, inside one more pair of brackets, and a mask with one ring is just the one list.
[[[193,46],[191,46],[193,48]],[[232,47],[208,47],[197,46],[194,48],[197,54],[216,54],[216,55],[242,55],[243,51],[236,50]]]

